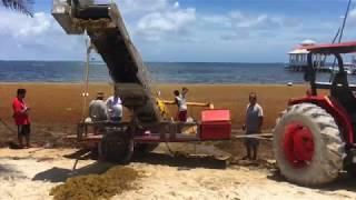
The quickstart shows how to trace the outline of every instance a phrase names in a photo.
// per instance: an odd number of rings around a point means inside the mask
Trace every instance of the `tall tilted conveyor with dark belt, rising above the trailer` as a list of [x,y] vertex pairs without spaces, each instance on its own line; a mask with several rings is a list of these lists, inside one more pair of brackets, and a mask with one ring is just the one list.
[[68,34],[87,31],[119,88],[123,106],[134,111],[139,121],[160,121],[148,69],[115,3],[80,7],[71,1],[55,0],[52,16]]

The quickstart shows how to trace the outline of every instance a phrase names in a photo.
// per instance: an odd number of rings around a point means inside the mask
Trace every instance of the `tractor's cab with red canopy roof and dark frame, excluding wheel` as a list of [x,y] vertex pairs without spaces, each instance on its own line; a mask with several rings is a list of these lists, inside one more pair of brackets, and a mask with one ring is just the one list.
[[[347,71],[345,69],[345,63],[343,60],[343,54],[354,53],[356,52],[356,41],[354,42],[343,42],[343,43],[332,43],[332,44],[319,44],[319,46],[310,46],[307,48],[309,51],[307,61],[308,67],[305,70],[305,80],[310,83],[310,99],[328,99],[329,103],[325,104],[322,101],[316,100],[314,103],[322,106],[328,112],[338,112],[339,116],[337,121],[339,124],[348,124],[345,129],[347,132],[344,138],[346,139],[346,143],[349,146],[354,144],[354,138],[356,137],[356,86],[350,84],[348,81]],[[316,80],[316,67],[314,64],[314,58],[316,54],[322,54],[325,58],[327,56],[334,56],[334,66],[333,69],[336,68],[335,74],[334,70],[332,70],[332,78],[329,82],[319,82]],[[318,96],[318,89],[327,89],[329,90],[328,97]],[[306,100],[304,100],[306,101]]]

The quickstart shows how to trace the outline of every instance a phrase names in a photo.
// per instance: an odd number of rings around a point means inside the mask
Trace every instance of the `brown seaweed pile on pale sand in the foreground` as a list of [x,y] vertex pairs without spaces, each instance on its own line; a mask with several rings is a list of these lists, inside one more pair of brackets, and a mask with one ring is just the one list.
[[55,200],[109,199],[126,190],[135,189],[132,182],[140,177],[140,172],[131,168],[115,167],[103,174],[70,178],[63,184],[52,188],[50,196],[53,196]]

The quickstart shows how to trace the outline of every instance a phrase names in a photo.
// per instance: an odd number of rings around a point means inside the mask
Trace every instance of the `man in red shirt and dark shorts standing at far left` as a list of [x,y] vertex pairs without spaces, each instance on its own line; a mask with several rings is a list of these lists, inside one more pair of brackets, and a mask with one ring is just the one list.
[[30,148],[30,108],[24,102],[26,89],[18,89],[17,97],[12,101],[13,119],[18,126],[18,140],[20,148],[23,148],[23,138],[26,139],[24,148]]

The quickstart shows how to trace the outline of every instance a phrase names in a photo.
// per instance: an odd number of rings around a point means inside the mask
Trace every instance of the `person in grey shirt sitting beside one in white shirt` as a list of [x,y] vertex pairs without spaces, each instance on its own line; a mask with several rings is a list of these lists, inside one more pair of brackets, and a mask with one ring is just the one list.
[[[97,93],[97,99],[89,103],[89,117],[92,122],[105,121],[108,119],[107,104],[103,101],[103,92]],[[100,126],[93,127],[95,134],[98,134]]]

